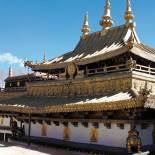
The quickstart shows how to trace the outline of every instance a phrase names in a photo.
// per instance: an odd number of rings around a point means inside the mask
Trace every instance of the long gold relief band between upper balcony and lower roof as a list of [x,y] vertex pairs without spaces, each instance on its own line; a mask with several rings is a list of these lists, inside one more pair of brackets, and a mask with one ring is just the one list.
[[102,95],[107,92],[126,91],[132,87],[130,77],[93,77],[90,79],[65,80],[28,84],[32,96],[74,97]]

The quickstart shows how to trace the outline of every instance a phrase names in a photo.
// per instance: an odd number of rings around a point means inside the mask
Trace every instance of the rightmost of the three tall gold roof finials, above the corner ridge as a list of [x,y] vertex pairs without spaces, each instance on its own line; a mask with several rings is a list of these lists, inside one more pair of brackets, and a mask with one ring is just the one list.
[[125,12],[124,19],[126,20],[126,24],[129,24],[129,23],[132,23],[134,15],[131,9],[131,0],[126,0],[126,1],[127,1],[127,6],[126,6],[126,12]]

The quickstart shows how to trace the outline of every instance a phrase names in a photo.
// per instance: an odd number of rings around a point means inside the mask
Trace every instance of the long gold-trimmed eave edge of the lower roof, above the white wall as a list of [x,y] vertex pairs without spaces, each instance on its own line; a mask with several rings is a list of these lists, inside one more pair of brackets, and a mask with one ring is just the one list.
[[0,105],[0,111],[4,112],[17,112],[17,113],[61,113],[61,112],[80,112],[80,111],[117,111],[124,109],[140,108],[144,105],[140,102],[139,98],[130,100],[122,100],[115,102],[103,103],[89,103],[89,104],[70,104],[70,105],[55,105],[46,107],[18,107],[10,105]]

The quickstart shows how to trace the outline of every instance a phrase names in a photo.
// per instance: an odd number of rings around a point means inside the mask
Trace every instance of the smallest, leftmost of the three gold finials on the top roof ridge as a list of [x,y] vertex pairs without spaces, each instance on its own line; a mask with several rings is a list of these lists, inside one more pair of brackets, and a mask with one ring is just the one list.
[[83,33],[82,37],[88,35],[89,31],[90,31],[90,28],[89,28],[89,23],[88,23],[88,12],[87,12],[84,16],[84,23],[81,29],[81,32]]

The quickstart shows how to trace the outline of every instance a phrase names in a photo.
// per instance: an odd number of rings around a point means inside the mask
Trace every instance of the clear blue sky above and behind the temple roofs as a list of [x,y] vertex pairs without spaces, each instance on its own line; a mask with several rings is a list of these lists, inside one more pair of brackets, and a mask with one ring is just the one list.
[[[114,26],[124,24],[126,0],[111,0]],[[132,0],[140,40],[155,47],[155,0]],[[17,64],[15,74],[23,73],[18,63],[41,61],[71,51],[78,42],[85,12],[89,12],[91,31],[101,29],[104,0],[0,0],[0,56],[9,53]],[[18,62],[19,60],[19,62]],[[0,60],[0,76],[9,61]],[[18,70],[18,71],[17,71]]]

